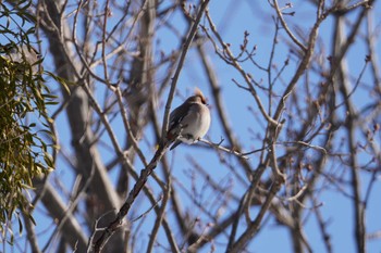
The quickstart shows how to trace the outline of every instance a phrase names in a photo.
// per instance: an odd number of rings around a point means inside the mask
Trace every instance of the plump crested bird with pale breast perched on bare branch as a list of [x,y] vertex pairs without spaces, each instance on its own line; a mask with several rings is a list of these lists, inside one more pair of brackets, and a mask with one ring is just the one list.
[[202,92],[196,89],[194,96],[189,97],[182,105],[172,111],[170,115],[168,136],[181,129],[179,138],[170,150],[180,143],[196,143],[207,134],[210,126],[210,112]]

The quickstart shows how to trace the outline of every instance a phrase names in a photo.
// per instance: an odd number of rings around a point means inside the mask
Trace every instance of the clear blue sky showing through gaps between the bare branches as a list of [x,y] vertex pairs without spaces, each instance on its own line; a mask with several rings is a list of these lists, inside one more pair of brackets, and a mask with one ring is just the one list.
[[[285,4],[286,1],[280,1],[280,4]],[[296,12],[293,17],[286,17],[287,22],[291,22],[291,24],[297,24],[299,27],[302,27],[303,30],[309,30],[311,27],[314,21],[315,21],[315,12],[311,8],[311,4],[309,1],[305,0],[298,0],[293,2],[294,11]],[[217,27],[221,35],[223,36],[224,41],[231,43],[231,48],[233,52],[237,52],[237,49],[243,40],[244,31],[247,30],[249,35],[249,46],[257,47],[255,60],[262,65],[268,64],[269,54],[271,52],[271,46],[272,46],[272,39],[274,34],[274,24],[272,20],[272,15],[274,15],[274,12],[269,8],[269,3],[267,1],[250,1],[250,0],[242,0],[242,1],[217,1],[211,0],[209,10],[211,13],[212,18],[214,20]],[[381,5],[378,1],[374,5],[374,12],[381,13]],[[351,17],[356,17],[358,14],[357,11],[355,11]],[[172,17],[171,17],[172,18]],[[176,26],[179,26],[179,29],[184,31],[184,21],[181,17],[180,14],[174,14],[173,21],[175,21]],[[380,26],[380,17],[377,17],[374,20],[374,25]],[[202,21],[205,22],[205,21]],[[201,24],[202,24],[201,22]],[[349,20],[351,22],[351,20]],[[292,26],[292,28],[295,28],[295,26]],[[332,18],[327,18],[322,25],[321,29],[319,31],[320,38],[323,41],[324,45],[327,45],[325,53],[324,55],[321,55],[322,58],[327,58],[330,54],[330,43],[331,36],[332,36]],[[287,41],[287,37],[284,31],[280,31],[281,39],[279,40],[279,43],[276,46],[275,51],[275,58],[274,58],[274,64],[278,66],[281,66],[283,62],[287,59],[290,55],[288,48],[285,45],[285,41]],[[165,29],[160,29],[157,34],[157,37],[160,37],[160,45],[161,47],[167,51],[170,52],[171,50],[174,50],[179,47],[177,40],[174,40],[173,35]],[[174,42],[175,41],[175,42]],[[164,45],[164,46],[163,46]],[[261,123],[258,122],[262,119],[259,117],[254,117],[250,114],[247,113],[247,107],[253,106],[256,112],[256,104],[253,99],[253,97],[244,91],[243,89],[237,88],[234,83],[232,81],[232,78],[236,80],[242,80],[242,78],[238,76],[238,73],[233,69],[231,66],[228,66],[223,61],[221,61],[214,53],[213,49],[210,43],[206,42],[205,45],[206,49],[210,52],[210,60],[214,65],[214,69],[218,74],[219,85],[221,86],[221,92],[224,98],[224,105],[228,111],[230,123],[232,124],[232,127],[235,129],[236,138],[244,144],[244,149],[249,151],[253,149],[257,149],[260,147],[260,142],[254,138],[254,134],[256,135],[263,135],[263,129],[260,127]],[[381,50],[381,46],[378,45],[378,52]],[[366,56],[366,48],[364,47],[364,42],[358,39],[356,41],[356,46],[352,47],[347,54],[348,64],[351,68],[351,74],[354,77],[358,77],[362,66],[364,66],[364,59]],[[292,58],[293,59],[293,58]],[[49,62],[51,61],[49,56],[49,52],[46,52],[46,63],[47,63],[47,69],[49,69]],[[286,68],[286,72],[283,75],[283,78],[285,79],[285,83],[288,80],[296,66],[297,62],[291,61],[290,66]],[[249,64],[243,64],[246,69],[253,69],[253,76],[259,80],[263,78],[266,80],[266,73],[262,73],[256,68],[254,68]],[[157,79],[160,80],[163,78],[165,73],[157,73]],[[314,76],[311,77],[314,78]],[[312,79],[311,81],[318,81],[317,79]],[[369,77],[369,69],[366,71],[366,74],[362,78],[364,83],[370,83]],[[53,84],[52,84],[53,86]],[[102,100],[103,99],[103,86],[99,86],[100,88],[97,90],[97,98]],[[175,107],[180,105],[183,102],[184,97],[189,96],[195,87],[199,87],[204,93],[206,93],[207,97],[210,98],[210,88],[207,81],[207,77],[204,73],[204,69],[200,66],[200,62],[197,58],[196,51],[194,49],[190,49],[186,61],[184,65],[184,69],[181,73],[181,77],[177,84],[177,91],[182,94],[181,97],[175,97],[172,107]],[[263,93],[260,93],[261,99],[263,99],[265,103],[266,98]],[[356,102],[358,101],[358,107],[364,106],[367,103],[367,99],[369,97],[369,92],[367,92],[365,89],[359,89],[358,92],[354,94],[356,98]],[[164,97],[167,98],[167,97]],[[164,100],[160,101],[159,103],[159,112],[160,116],[163,113],[164,107]],[[207,135],[207,138],[218,142],[220,138],[225,138],[223,136],[223,130],[220,127],[219,119],[217,117],[216,107],[212,104],[212,100],[210,100],[210,107],[212,113],[212,125],[211,128]],[[52,110],[53,111],[53,110]],[[249,115],[249,116],[248,116]],[[263,121],[263,119],[262,119]],[[380,118],[379,118],[380,121]],[[69,124],[66,122],[65,114],[61,114],[58,117],[57,121],[58,131],[59,131],[59,138],[61,141],[61,146],[65,147],[64,152],[71,152],[71,137],[69,136]],[[114,128],[114,131],[116,134],[116,137],[121,144],[124,143],[124,127],[121,122],[120,117],[116,117],[112,122],[112,127]],[[147,135],[144,137],[145,141],[142,142],[142,148],[147,153],[147,157],[150,157],[149,153],[153,153],[155,150],[155,141],[152,137],[152,132],[147,131]],[[361,137],[359,136],[359,139]],[[102,138],[102,141],[105,141],[106,144],[110,144],[110,141],[107,137]],[[226,143],[226,142],[225,142]],[[110,146],[111,147],[111,146]],[[105,146],[100,148],[101,155],[103,161],[109,161],[112,156],[112,151],[110,151]],[[173,177],[177,180],[177,182],[174,184],[176,189],[181,189],[181,186],[184,187],[184,189],[190,189],[192,182],[189,181],[189,173],[193,173],[193,166],[189,163],[189,160],[187,159],[188,155],[192,155],[195,157],[201,165],[205,166],[205,168],[208,170],[208,173],[213,177],[214,181],[220,182],[222,186],[225,186],[226,188],[230,188],[231,191],[236,194],[237,197],[242,197],[243,190],[245,189],[245,186],[243,186],[239,181],[233,180],[230,181],[232,178],[232,172],[226,168],[226,166],[221,166],[219,157],[216,155],[214,152],[210,152],[204,148],[200,147],[187,147],[187,146],[181,146],[176,148],[174,152],[171,152],[169,154],[170,161],[173,161],[172,166],[172,174]],[[173,159],[173,160],[172,160]],[[225,159],[231,161],[232,164],[237,164],[236,160],[232,155],[225,155]],[[368,160],[367,156],[364,156],[364,162]],[[361,161],[362,162],[362,161]],[[257,155],[250,156],[250,164],[253,167],[255,167],[258,164],[258,157]],[[330,165],[328,165],[330,166]],[[142,164],[138,162],[136,163],[136,167],[142,167]],[[342,173],[342,167],[332,166],[332,169],[335,169],[337,175]],[[118,175],[119,168],[115,168],[111,172],[111,177],[113,180],[115,180],[115,177]],[[160,167],[156,170],[159,176],[162,177],[162,173],[160,170]],[[242,170],[237,170],[236,173],[242,174]],[[244,175],[242,175],[244,176]],[[196,188],[201,191],[202,190],[202,177],[195,173],[195,177],[199,178],[197,180]],[[71,189],[72,185],[74,184],[74,176],[71,173],[71,169],[69,168],[69,165],[64,162],[62,157],[58,160],[58,166],[56,172],[52,174],[52,184],[53,186],[58,185],[54,181],[54,179],[61,178],[64,180],[64,187],[67,189]],[[362,186],[367,186],[367,181],[370,179],[367,175],[362,175],[361,179],[364,180]],[[157,189],[156,184],[153,180],[149,180],[148,184],[153,189]],[[353,212],[352,212],[352,203],[347,198],[344,198],[341,192],[339,192],[336,189],[332,188],[330,185],[327,184],[327,181],[320,181],[321,187],[324,189],[328,188],[330,190],[323,191],[321,195],[319,195],[319,202],[322,203],[322,206],[320,207],[320,211],[325,219],[329,220],[328,224],[328,231],[332,236],[332,245],[334,252],[346,252],[352,253],[356,252],[355,250],[355,242],[353,240]],[[362,189],[365,191],[365,189]],[[157,191],[159,192],[159,191]],[[186,192],[184,190],[180,190],[182,192],[182,197],[186,197]],[[381,212],[381,203],[377,200],[376,194],[381,192],[381,184],[378,180],[378,182],[374,186],[374,189],[372,191],[371,201],[369,202],[367,213],[367,229],[368,232],[377,231],[381,229],[381,219],[379,218],[379,214]],[[213,195],[210,195],[210,192],[206,191],[205,195],[201,197],[204,199],[202,201],[206,201],[206,198],[213,198]],[[139,197],[137,200],[137,203],[139,205],[139,211],[145,212],[150,205],[147,203],[147,201],[144,200],[144,195]],[[195,210],[194,204],[190,202],[185,202],[184,210],[188,210],[194,216],[200,215],[204,219],[204,222],[207,222],[208,218],[205,217],[199,211]],[[314,206],[312,203],[306,203],[307,206]],[[171,206],[169,206],[171,207]],[[208,206],[208,208],[213,210],[213,206]],[[44,208],[41,205],[37,207],[36,212],[36,220],[37,223],[39,220],[44,220],[44,224],[40,224],[37,227],[37,231],[45,231],[48,227],[51,225],[51,220],[47,219],[44,215]],[[234,210],[228,208],[228,211],[224,213],[224,215],[228,215],[229,212],[232,212]],[[258,212],[258,210],[253,208],[253,213],[255,214]],[[306,210],[305,214],[308,216],[310,215],[308,210]],[[130,215],[128,217],[134,217],[139,215],[139,213],[134,213]],[[254,215],[253,215],[254,216]],[[156,215],[153,212],[147,215],[146,217],[146,225],[140,228],[139,232],[143,237],[147,237],[147,240],[145,242],[148,242],[148,233],[150,232],[150,229],[152,227],[152,224],[155,222]],[[171,217],[169,217],[170,219]],[[258,252],[258,253],[267,253],[267,252],[293,252],[292,250],[292,242],[290,239],[288,231],[279,225],[276,225],[275,220],[273,218],[269,218],[268,216],[265,218],[266,223],[263,226],[263,229],[257,235],[257,237],[253,240],[253,242],[248,246],[249,252]],[[246,225],[244,222],[242,223],[241,231],[243,228],[245,228]],[[51,229],[48,229],[51,231]],[[175,229],[176,231],[176,229]],[[321,233],[318,231],[317,220],[315,216],[312,215],[311,218],[308,219],[306,225],[306,237],[308,241],[310,242],[312,249],[315,252],[324,252],[323,242],[321,239]],[[47,233],[47,237],[41,237],[41,243],[44,244],[44,241],[47,240],[49,237]],[[161,230],[159,232],[158,241],[165,241],[167,238]],[[226,241],[226,237],[220,236],[216,241],[217,252],[220,252],[224,249],[224,246],[220,245],[219,243],[224,243]],[[379,252],[381,249],[381,241],[370,241],[368,244],[368,252]],[[143,249],[145,249],[143,246]],[[202,249],[202,252],[209,252],[209,248]],[[160,248],[157,252],[162,252]]]

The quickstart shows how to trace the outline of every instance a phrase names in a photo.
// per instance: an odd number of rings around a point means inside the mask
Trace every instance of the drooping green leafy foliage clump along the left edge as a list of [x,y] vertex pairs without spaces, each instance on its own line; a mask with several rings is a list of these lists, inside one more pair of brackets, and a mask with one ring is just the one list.
[[56,97],[44,84],[42,60],[30,46],[29,1],[17,4],[9,9],[0,1],[0,41],[5,42],[0,47],[0,230],[15,210],[28,214],[25,192],[35,177],[53,168],[49,152],[54,147],[47,142],[54,137],[46,106]]

